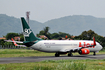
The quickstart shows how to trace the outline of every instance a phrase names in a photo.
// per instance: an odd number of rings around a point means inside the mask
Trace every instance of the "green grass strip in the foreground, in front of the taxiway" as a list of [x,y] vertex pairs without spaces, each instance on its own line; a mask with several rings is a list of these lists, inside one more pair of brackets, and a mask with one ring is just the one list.
[[103,60],[44,60],[30,63],[0,64],[0,70],[105,70]]

